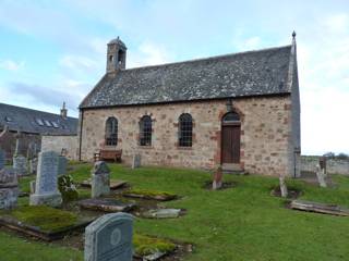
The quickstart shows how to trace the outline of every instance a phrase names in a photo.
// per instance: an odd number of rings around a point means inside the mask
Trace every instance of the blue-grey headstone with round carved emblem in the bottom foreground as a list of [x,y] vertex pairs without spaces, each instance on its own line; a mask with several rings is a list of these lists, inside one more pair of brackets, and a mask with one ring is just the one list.
[[132,261],[133,216],[103,215],[85,229],[85,261]]

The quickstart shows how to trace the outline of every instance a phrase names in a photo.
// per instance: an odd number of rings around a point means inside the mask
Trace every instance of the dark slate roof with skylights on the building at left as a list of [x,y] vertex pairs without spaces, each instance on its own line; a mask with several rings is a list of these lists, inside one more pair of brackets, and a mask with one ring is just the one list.
[[76,135],[77,119],[0,103],[0,126],[31,134]]

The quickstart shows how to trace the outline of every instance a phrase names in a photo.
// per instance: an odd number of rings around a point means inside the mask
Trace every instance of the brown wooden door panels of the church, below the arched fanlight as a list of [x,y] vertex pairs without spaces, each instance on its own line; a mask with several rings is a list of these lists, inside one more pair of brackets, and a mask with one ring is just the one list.
[[240,125],[222,126],[221,163],[240,163]]

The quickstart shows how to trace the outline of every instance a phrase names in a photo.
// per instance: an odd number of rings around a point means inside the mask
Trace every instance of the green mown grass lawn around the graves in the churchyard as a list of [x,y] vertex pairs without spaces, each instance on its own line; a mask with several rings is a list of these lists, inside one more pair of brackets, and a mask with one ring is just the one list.
[[[75,165],[75,182],[89,177],[91,165]],[[134,189],[161,190],[182,196],[161,202],[188,210],[176,220],[135,220],[135,232],[194,244],[188,261],[203,260],[348,260],[349,217],[292,211],[285,200],[269,195],[277,178],[225,175],[234,188],[203,189],[210,175],[201,171],[111,164],[112,178]],[[299,181],[288,184],[301,198],[349,208],[349,178],[335,176],[336,188],[317,188]],[[27,181],[24,181],[27,183]],[[26,185],[23,185],[26,186]],[[74,249],[21,239],[0,232],[1,260],[83,260]],[[64,254],[62,254],[64,253]]]

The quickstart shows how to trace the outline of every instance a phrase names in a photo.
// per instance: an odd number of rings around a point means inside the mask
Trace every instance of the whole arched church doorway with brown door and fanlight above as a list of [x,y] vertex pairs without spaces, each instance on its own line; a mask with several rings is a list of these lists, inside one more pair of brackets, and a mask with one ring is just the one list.
[[240,163],[240,116],[236,112],[228,112],[221,119],[221,163]]

